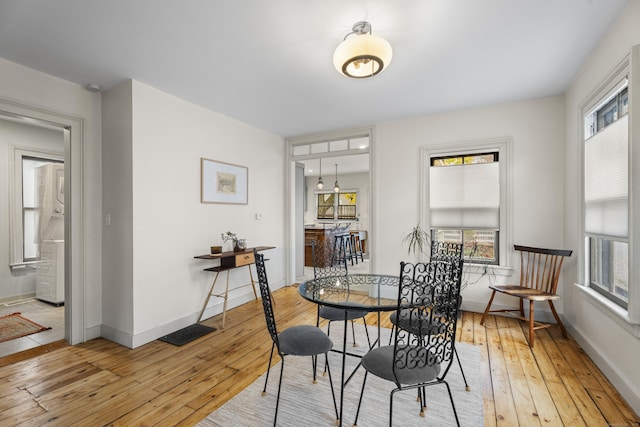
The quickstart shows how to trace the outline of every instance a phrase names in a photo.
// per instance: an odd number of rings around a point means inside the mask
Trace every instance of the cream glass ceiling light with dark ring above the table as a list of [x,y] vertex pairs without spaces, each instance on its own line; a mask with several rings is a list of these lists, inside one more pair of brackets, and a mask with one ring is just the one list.
[[352,30],[333,53],[336,70],[347,77],[362,79],[387,68],[392,56],[389,42],[371,34],[367,21],[356,22]]

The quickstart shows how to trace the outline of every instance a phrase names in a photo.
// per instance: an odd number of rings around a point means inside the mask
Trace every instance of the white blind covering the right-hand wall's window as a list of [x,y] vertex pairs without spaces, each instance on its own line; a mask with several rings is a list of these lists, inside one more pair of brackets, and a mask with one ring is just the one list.
[[629,231],[628,116],[585,141],[585,231],[627,237]]

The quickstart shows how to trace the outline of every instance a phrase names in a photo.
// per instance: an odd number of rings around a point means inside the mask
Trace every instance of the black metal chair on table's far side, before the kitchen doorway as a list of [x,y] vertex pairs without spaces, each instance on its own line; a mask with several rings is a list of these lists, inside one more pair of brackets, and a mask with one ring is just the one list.
[[[335,244],[334,244],[335,248]],[[347,269],[347,258],[335,256],[335,249],[331,249],[329,245],[321,245],[317,244],[314,240],[311,242],[311,253],[313,256],[313,277],[315,279],[323,278],[323,277],[344,277],[348,274]],[[327,334],[331,332],[331,322],[335,321],[350,321],[351,322],[351,332],[353,334],[353,346],[357,347],[356,343],[356,332],[355,327],[353,325],[353,321],[355,319],[362,319],[365,322],[365,316],[369,312],[367,310],[358,310],[358,309],[340,309],[335,307],[327,307],[320,305],[318,306],[318,315],[316,319],[316,326],[320,325],[320,319],[327,320]],[[371,347],[371,340],[369,338],[369,331],[366,327],[365,322],[365,332],[367,334],[367,342],[369,347]]]

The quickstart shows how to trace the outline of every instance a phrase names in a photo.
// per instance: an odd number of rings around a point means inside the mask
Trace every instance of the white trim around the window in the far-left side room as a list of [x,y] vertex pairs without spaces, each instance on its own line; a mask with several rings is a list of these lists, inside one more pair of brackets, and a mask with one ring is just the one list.
[[38,262],[25,261],[23,258],[22,159],[24,157],[35,157],[64,162],[64,152],[18,146],[11,146],[10,149],[12,156],[9,177],[9,267],[13,269]]

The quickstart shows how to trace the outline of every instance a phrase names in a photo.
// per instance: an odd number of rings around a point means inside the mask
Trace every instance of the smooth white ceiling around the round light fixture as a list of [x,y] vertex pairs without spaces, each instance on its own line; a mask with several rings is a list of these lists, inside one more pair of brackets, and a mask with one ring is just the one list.
[[[0,56],[288,137],[561,94],[629,1],[0,0]],[[354,80],[332,55],[361,20],[393,60]]]

